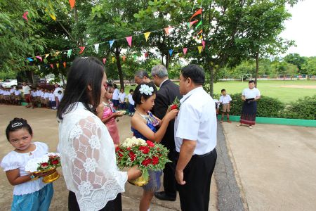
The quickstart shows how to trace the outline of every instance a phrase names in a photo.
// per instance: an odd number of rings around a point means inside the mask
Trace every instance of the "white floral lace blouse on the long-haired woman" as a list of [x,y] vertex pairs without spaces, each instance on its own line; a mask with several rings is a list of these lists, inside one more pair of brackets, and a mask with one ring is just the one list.
[[127,173],[117,168],[107,127],[83,103],[60,121],[58,151],[67,188],[76,194],[80,210],[101,210],[125,191]]

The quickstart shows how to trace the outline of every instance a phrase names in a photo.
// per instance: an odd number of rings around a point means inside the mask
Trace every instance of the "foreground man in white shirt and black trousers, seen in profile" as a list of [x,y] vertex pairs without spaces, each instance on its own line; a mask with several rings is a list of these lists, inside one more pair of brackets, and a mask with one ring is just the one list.
[[178,152],[176,181],[181,210],[209,210],[211,177],[216,163],[216,110],[202,85],[205,73],[187,65],[180,74],[180,112],[175,122]]

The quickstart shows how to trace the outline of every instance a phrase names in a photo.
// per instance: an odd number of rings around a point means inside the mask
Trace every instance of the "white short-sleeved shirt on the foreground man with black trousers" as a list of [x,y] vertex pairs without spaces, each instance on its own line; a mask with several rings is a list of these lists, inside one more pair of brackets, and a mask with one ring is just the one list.
[[216,110],[213,98],[202,87],[192,89],[180,100],[174,125],[176,151],[183,139],[197,141],[194,155],[204,155],[216,147]]

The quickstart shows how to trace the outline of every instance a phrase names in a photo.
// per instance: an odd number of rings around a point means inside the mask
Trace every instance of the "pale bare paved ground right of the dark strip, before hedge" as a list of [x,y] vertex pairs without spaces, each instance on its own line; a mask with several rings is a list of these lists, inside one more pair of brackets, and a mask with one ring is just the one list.
[[316,128],[235,124],[223,128],[246,209],[316,210]]

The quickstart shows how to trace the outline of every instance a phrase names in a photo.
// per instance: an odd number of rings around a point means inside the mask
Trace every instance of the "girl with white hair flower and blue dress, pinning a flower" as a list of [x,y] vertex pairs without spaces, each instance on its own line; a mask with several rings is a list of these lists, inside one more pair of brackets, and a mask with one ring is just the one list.
[[[150,113],[154,106],[157,89],[152,83],[139,84],[133,93],[133,101],[136,104],[136,112],[131,118],[131,129],[136,138],[150,140],[159,143],[162,141],[166,128],[171,120],[178,114],[178,110],[171,110],[166,113],[162,120]],[[157,130],[156,127],[159,127]],[[150,201],[154,196],[154,192],[160,188],[160,177],[162,172],[148,171],[150,179],[143,186],[143,196],[140,199],[139,210],[147,211],[150,207]]]

